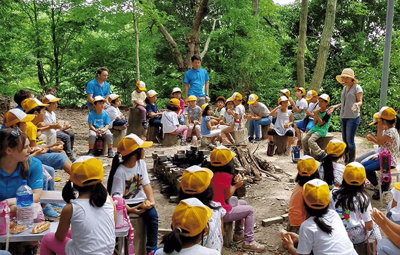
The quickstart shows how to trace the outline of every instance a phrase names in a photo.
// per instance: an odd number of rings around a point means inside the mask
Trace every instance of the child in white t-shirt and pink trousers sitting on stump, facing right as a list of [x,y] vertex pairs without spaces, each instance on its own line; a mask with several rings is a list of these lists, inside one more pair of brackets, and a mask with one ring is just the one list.
[[179,100],[176,98],[172,98],[167,105],[167,111],[165,111],[163,113],[163,116],[161,117],[161,124],[163,124],[163,134],[182,134],[181,145],[183,146],[186,145],[185,140],[188,133],[188,128],[187,126],[179,124],[178,115],[175,113],[178,107]]

